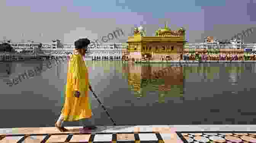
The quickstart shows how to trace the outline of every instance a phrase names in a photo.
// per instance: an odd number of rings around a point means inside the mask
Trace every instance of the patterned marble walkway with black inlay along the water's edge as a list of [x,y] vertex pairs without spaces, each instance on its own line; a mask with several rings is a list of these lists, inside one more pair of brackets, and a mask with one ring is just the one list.
[[256,143],[256,125],[98,126],[0,129],[0,143]]

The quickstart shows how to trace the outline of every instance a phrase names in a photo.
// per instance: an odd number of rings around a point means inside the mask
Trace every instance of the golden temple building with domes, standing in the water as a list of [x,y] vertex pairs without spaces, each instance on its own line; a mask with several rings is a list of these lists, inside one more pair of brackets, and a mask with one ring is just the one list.
[[155,36],[146,36],[142,27],[134,28],[134,36],[128,37],[128,58],[159,60],[170,58],[178,60],[183,52],[185,40],[184,28],[170,30],[165,24],[159,28]]

